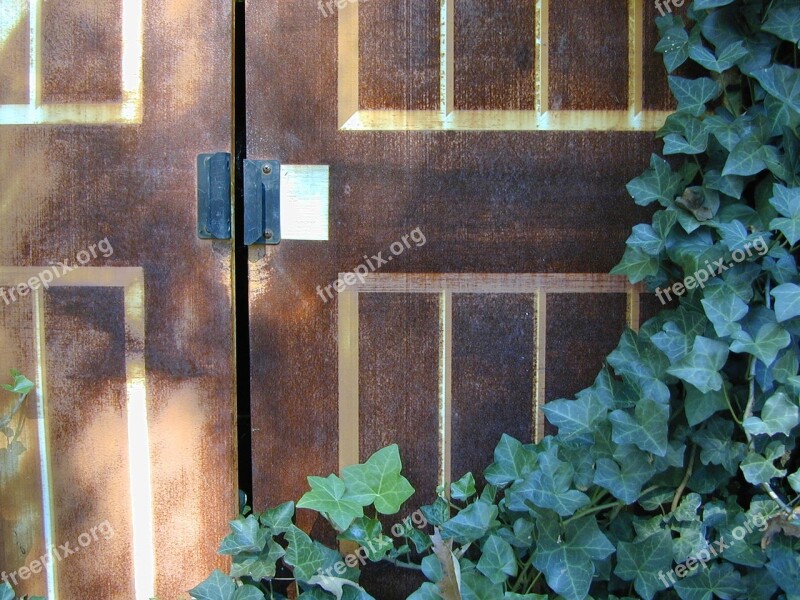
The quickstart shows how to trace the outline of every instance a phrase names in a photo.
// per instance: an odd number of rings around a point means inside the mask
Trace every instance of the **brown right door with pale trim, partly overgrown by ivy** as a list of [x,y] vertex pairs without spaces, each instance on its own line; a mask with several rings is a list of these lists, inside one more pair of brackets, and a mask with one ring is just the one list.
[[[323,239],[250,252],[256,506],[393,442],[428,502],[591,383],[648,310],[604,274],[645,216],[625,183],[670,107],[656,16],[248,0],[248,156],[316,166],[329,192],[306,207]],[[384,600],[415,585],[365,579]]]

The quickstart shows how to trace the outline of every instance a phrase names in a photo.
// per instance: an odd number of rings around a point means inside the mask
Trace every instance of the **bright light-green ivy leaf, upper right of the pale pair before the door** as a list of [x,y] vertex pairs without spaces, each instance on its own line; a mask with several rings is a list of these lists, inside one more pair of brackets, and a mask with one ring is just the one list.
[[348,495],[356,502],[363,506],[374,503],[379,513],[393,515],[414,494],[408,479],[400,474],[402,468],[400,449],[392,444],[378,450],[363,465],[345,467],[342,475]]

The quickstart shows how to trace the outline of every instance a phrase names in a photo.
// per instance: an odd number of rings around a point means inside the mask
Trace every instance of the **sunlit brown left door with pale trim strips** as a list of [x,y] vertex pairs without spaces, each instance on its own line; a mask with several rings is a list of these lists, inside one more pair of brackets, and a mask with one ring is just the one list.
[[4,1],[0,56],[0,368],[36,383],[0,570],[187,597],[236,506],[230,249],[197,239],[194,192],[230,149],[231,6]]

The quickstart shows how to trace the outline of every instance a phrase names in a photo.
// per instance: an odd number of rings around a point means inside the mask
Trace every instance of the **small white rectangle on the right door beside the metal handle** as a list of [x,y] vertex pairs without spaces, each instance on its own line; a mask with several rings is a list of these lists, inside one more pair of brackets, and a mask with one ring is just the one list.
[[281,239],[327,240],[328,165],[281,165]]

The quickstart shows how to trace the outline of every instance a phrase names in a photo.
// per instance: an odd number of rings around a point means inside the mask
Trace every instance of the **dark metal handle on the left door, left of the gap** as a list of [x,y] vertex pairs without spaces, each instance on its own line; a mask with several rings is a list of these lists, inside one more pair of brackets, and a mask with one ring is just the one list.
[[197,157],[197,235],[204,240],[231,239],[231,155]]

